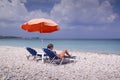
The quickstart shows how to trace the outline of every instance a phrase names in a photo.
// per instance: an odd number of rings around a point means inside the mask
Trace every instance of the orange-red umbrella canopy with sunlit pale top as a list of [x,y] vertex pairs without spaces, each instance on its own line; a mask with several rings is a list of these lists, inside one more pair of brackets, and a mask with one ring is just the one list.
[[50,19],[32,19],[24,23],[21,28],[27,30],[28,32],[40,32],[40,33],[51,33],[58,31],[60,28],[57,23]]

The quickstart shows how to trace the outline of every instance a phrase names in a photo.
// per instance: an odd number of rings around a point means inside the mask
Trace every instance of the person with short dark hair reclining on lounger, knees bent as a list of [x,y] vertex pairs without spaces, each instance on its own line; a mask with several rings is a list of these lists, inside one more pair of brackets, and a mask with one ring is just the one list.
[[[48,44],[47,48],[48,48],[49,50],[53,51],[54,46],[53,46],[53,44],[50,43],[50,44]],[[65,55],[71,56],[66,49],[63,50],[63,51],[62,51],[61,53],[59,53],[59,54],[56,53],[56,51],[53,51],[53,52],[56,54],[56,56],[57,56],[58,58],[63,58]]]

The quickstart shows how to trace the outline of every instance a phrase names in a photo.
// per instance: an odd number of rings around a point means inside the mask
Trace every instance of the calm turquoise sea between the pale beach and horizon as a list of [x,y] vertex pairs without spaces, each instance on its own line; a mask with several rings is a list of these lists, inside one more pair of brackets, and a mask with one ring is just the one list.
[[43,40],[40,39],[0,39],[0,46],[18,47],[46,47],[48,43],[53,43],[58,50],[68,49],[70,51],[83,52],[105,52],[120,54],[120,39],[113,40]]

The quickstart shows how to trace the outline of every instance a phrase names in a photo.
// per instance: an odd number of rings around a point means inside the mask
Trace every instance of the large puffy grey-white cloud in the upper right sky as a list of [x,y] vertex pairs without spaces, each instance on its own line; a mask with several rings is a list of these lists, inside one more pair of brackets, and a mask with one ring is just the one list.
[[66,23],[111,23],[117,18],[109,1],[61,0],[54,6],[51,16]]

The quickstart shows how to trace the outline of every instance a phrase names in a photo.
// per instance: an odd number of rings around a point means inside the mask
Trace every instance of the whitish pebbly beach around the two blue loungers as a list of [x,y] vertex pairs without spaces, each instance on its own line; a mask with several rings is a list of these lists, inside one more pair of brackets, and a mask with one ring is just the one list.
[[120,55],[71,53],[76,62],[43,64],[27,60],[25,48],[0,46],[0,80],[120,80]]

